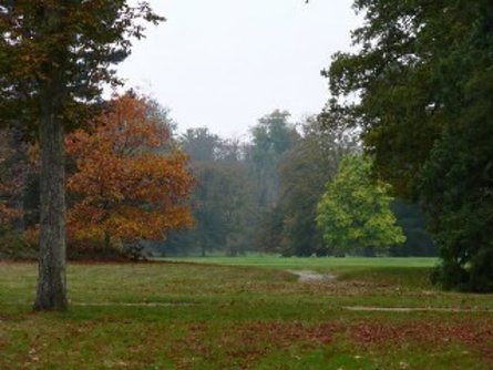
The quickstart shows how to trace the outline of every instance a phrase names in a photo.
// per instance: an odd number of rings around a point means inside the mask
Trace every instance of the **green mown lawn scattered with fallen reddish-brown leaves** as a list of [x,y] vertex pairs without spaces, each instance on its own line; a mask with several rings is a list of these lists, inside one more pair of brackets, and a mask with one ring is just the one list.
[[0,263],[0,369],[493,368],[493,296],[434,290],[432,259],[205,260],[70,265],[64,314],[31,311],[35,265]]

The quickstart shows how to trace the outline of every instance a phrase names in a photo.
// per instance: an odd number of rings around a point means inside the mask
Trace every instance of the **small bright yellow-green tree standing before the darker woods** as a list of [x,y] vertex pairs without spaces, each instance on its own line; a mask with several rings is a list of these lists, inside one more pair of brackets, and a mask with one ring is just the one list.
[[373,183],[371,166],[368,157],[346,156],[318,205],[317,224],[325,241],[338,251],[372,255],[405,241],[390,210],[389,186]]

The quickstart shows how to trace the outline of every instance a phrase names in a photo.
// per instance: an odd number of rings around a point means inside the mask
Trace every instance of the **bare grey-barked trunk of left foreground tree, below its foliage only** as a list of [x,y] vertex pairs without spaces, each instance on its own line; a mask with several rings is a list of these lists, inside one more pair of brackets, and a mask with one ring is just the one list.
[[[48,97],[49,99],[49,97]],[[40,123],[40,255],[35,310],[65,310],[65,165],[63,123],[49,101]]]

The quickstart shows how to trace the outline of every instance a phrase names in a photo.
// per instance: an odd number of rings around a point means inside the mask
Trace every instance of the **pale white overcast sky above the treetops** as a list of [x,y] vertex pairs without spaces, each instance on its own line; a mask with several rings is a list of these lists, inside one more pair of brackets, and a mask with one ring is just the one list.
[[348,50],[352,0],[151,0],[148,28],[119,68],[172,111],[178,130],[243,136],[275,109],[296,121],[328,99],[320,70]]

